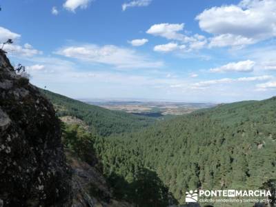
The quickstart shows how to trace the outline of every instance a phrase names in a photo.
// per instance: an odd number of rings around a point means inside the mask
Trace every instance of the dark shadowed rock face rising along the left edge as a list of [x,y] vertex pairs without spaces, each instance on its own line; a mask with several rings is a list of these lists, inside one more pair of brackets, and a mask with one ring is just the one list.
[[59,120],[0,50],[0,206],[71,206]]

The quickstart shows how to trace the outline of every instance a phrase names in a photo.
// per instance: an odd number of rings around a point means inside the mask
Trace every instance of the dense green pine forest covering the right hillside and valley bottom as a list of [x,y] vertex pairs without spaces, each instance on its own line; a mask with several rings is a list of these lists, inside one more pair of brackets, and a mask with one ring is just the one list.
[[190,189],[275,189],[275,106],[223,104],[110,136],[67,126],[65,144],[88,162],[95,152],[116,196],[139,206],[184,204]]

